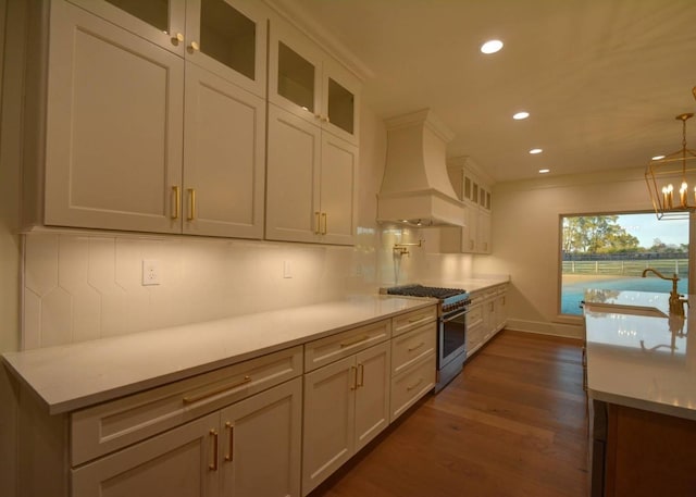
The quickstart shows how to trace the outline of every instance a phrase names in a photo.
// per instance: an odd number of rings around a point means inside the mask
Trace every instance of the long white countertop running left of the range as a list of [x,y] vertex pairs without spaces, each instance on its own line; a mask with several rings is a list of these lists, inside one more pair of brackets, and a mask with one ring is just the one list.
[[428,299],[345,300],[2,356],[51,414],[160,386],[433,306]]

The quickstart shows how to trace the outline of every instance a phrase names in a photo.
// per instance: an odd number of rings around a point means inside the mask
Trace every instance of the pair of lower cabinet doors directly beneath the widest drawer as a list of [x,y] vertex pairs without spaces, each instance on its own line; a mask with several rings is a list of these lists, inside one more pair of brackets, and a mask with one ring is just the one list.
[[301,381],[73,470],[73,497],[298,496]]

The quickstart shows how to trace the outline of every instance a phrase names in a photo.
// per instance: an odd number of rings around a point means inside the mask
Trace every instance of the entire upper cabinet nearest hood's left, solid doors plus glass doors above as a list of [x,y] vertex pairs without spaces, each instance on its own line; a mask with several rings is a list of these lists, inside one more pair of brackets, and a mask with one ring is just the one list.
[[265,237],[351,245],[359,80],[279,20],[270,40]]

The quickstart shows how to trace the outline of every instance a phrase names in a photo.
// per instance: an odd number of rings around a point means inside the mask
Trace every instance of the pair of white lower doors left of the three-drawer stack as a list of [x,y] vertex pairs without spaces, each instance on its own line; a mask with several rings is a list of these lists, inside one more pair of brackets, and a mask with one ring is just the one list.
[[304,375],[302,495],[389,424],[390,344]]

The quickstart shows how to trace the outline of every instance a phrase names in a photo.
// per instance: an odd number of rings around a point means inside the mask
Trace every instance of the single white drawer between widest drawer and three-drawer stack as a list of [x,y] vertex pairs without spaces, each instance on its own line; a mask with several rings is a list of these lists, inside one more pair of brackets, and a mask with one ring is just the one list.
[[351,356],[391,337],[391,321],[384,320],[304,345],[304,372]]

